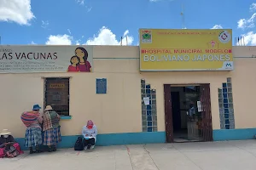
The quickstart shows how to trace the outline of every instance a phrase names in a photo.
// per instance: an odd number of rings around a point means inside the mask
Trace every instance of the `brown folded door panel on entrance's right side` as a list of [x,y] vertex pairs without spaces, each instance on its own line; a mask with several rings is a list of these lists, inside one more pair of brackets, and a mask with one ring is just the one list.
[[201,84],[201,108],[203,141],[212,141],[210,84]]

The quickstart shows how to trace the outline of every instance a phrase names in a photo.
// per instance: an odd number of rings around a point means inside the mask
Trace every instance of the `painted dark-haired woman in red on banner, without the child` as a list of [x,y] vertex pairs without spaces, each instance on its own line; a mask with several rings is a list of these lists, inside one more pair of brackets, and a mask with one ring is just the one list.
[[91,66],[88,59],[88,52],[85,48],[76,48],[75,50],[76,56],[79,57],[79,71],[81,72],[91,72]]

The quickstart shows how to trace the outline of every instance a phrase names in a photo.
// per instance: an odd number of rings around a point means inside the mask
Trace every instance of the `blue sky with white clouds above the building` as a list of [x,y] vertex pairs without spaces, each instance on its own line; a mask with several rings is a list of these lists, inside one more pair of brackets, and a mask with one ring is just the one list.
[[[2,44],[137,45],[139,28],[231,28],[256,45],[255,0],[0,0]],[[126,44],[123,41],[123,44]]]

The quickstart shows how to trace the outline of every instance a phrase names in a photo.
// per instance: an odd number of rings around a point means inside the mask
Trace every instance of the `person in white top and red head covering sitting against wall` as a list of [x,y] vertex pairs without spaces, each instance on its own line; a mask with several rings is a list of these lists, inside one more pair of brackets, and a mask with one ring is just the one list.
[[82,134],[84,136],[84,150],[92,150],[96,144],[97,127],[90,120],[87,125],[83,127]]

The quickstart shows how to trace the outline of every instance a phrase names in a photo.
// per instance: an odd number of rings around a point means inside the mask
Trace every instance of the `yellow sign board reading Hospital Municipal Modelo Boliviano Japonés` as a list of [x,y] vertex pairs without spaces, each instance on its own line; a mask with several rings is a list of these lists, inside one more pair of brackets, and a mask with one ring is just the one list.
[[140,71],[232,71],[232,30],[140,29]]

